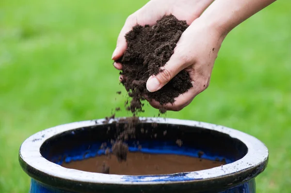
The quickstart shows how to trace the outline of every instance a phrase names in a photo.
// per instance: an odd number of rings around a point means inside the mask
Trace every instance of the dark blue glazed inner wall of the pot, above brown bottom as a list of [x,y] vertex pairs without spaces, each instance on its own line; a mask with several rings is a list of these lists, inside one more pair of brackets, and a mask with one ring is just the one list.
[[[104,146],[106,143],[111,148],[116,133],[122,132],[124,126],[125,123],[114,122],[70,130],[46,140],[40,152],[44,158],[59,165],[103,156],[105,148],[100,148],[102,144]],[[180,155],[225,164],[240,160],[247,153],[247,147],[242,141],[210,129],[151,122],[141,122],[135,128],[134,136],[129,136],[126,141],[130,153]],[[199,167],[193,170],[199,170]]]

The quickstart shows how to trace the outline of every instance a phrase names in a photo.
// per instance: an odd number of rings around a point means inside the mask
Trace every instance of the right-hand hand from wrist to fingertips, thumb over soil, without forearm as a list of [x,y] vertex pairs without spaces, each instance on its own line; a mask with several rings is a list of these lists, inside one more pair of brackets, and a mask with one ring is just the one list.
[[196,19],[180,37],[174,54],[162,67],[163,71],[149,77],[146,83],[148,91],[157,91],[185,69],[190,75],[193,88],[178,96],[174,104],[161,106],[156,101],[149,103],[155,108],[163,107],[173,111],[179,111],[190,104],[197,94],[209,86],[213,64],[225,35],[224,30],[200,18]]

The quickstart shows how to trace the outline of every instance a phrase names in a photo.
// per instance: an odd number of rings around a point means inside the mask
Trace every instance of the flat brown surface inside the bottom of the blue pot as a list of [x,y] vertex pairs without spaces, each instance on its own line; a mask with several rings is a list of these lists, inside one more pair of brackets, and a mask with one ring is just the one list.
[[210,169],[222,164],[225,163],[190,156],[128,152],[127,162],[120,163],[115,156],[108,158],[102,155],[63,163],[62,166],[103,174],[162,175]]

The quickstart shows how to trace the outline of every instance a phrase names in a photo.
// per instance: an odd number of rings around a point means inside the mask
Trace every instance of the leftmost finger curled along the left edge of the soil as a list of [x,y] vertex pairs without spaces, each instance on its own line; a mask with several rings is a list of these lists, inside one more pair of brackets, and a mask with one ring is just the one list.
[[132,30],[132,27],[137,25],[136,22],[136,18],[133,15],[129,15],[129,17],[127,18],[122,30],[120,31],[118,38],[117,38],[117,44],[116,44],[116,48],[113,51],[112,54],[112,59],[116,60],[119,59],[123,53],[125,52],[126,48],[127,48],[127,43],[126,43],[126,39],[125,39],[125,35]]

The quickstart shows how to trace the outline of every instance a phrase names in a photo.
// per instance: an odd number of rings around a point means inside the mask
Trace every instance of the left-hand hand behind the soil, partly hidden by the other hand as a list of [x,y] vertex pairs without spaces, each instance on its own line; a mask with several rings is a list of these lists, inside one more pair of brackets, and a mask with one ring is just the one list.
[[[213,0],[150,0],[144,7],[129,15],[124,27],[120,31],[117,45],[113,52],[112,59],[119,59],[127,48],[125,35],[137,24],[141,26],[154,25],[164,15],[175,15],[179,20],[186,20],[190,25],[194,19],[211,4]],[[120,63],[113,64],[118,70],[122,69]]]

